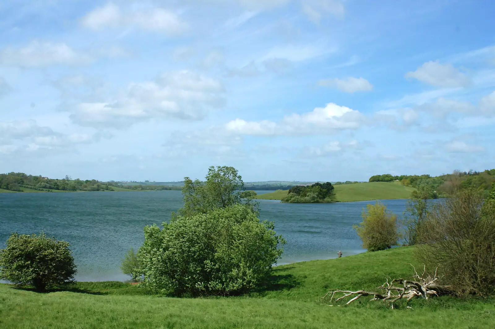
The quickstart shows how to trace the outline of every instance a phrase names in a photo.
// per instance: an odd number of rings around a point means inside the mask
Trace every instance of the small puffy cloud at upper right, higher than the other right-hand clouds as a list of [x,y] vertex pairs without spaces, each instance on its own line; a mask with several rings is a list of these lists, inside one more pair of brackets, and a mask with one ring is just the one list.
[[442,65],[438,61],[429,61],[418,67],[416,71],[407,72],[406,78],[414,78],[436,87],[467,87],[471,79],[459,72],[451,64]]

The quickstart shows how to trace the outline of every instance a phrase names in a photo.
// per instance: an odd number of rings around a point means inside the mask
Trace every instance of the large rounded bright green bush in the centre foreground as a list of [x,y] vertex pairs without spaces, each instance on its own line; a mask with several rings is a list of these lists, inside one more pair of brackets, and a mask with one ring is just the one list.
[[177,296],[245,292],[271,273],[282,254],[285,240],[273,229],[244,204],[177,216],[162,230],[145,227],[142,285]]

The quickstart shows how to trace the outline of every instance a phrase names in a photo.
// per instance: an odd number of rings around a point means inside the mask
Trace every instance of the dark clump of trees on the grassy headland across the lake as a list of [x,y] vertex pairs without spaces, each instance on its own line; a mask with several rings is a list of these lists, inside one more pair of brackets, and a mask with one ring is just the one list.
[[332,183],[324,184],[315,183],[310,186],[295,186],[289,189],[289,192],[282,202],[291,203],[317,203],[332,202],[335,200],[335,191]]

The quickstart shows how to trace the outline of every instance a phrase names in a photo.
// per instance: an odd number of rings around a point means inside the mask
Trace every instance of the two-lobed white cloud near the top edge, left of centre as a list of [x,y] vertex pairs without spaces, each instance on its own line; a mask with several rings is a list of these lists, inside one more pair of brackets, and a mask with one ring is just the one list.
[[124,12],[113,3],[94,9],[81,22],[92,30],[132,26],[166,35],[176,35],[186,29],[186,24],[172,11],[152,8]]

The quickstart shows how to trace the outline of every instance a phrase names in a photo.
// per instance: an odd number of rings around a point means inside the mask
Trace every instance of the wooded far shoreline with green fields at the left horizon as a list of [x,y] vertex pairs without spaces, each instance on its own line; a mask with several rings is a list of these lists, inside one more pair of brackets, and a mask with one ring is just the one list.
[[22,192],[22,188],[50,192],[60,191],[114,191],[115,188],[127,188],[133,190],[171,190],[181,187],[169,187],[161,185],[123,185],[120,182],[100,182],[98,180],[72,180],[69,176],[65,179],[50,179],[48,177],[27,175],[24,173],[11,172],[0,174],[0,188]]

